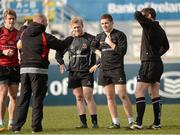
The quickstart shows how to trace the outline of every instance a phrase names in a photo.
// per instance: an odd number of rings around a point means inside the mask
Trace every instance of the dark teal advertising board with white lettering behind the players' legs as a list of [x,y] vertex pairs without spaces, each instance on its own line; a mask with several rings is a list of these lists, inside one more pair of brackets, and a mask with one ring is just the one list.
[[[127,93],[132,103],[135,103],[136,75],[139,70],[139,64],[125,64],[127,77]],[[106,104],[106,97],[103,88],[97,83],[95,74],[94,98],[97,104]],[[59,73],[57,65],[49,67],[48,93],[45,98],[45,105],[72,105],[75,104],[75,97],[72,90],[67,88],[68,72],[64,75]],[[164,73],[161,78],[160,95],[163,103],[180,103],[180,63],[167,63],[164,65]],[[116,97],[118,103],[121,103]],[[150,103],[150,97],[146,96]]]

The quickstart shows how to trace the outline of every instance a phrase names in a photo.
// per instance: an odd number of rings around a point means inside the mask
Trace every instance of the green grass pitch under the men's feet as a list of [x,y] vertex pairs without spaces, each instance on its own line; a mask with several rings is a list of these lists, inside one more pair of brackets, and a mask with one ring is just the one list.
[[[133,105],[134,117],[136,116],[135,105]],[[111,124],[110,114],[106,105],[98,105],[99,129],[91,128],[90,116],[87,112],[88,129],[75,129],[79,124],[79,117],[75,106],[44,107],[43,128],[41,134],[180,134],[180,105],[163,105],[162,108],[162,128],[160,130],[148,130],[146,127],[153,121],[152,105],[146,106],[144,115],[143,130],[128,130],[127,119],[122,105],[118,106],[120,129],[107,129]],[[7,116],[6,116],[7,117]],[[11,131],[0,134],[13,134]],[[28,118],[22,128],[21,134],[31,134],[31,108],[29,108]]]

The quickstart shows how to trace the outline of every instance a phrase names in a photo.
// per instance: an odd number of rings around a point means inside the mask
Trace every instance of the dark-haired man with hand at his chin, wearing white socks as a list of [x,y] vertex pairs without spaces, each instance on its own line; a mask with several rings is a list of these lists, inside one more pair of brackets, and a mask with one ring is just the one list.
[[103,14],[100,18],[103,32],[92,41],[92,50],[101,57],[99,70],[99,84],[103,86],[112,124],[109,129],[120,128],[115,92],[122,101],[128,123],[134,121],[132,105],[126,93],[126,75],[124,72],[124,55],[127,50],[126,35],[113,28],[113,18],[110,14]]

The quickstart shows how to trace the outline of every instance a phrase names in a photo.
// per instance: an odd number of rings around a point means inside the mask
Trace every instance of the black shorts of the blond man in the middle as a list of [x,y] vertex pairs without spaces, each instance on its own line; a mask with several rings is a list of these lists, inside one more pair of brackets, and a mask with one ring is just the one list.
[[94,87],[93,73],[69,71],[68,88]]

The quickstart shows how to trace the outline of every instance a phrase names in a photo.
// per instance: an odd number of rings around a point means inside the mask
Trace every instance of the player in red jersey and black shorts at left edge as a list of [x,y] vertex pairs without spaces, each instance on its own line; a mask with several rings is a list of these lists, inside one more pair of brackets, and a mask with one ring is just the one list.
[[0,28],[0,131],[4,131],[4,115],[6,111],[6,98],[9,95],[9,123],[11,128],[14,119],[16,96],[20,81],[18,49],[16,43],[19,35],[14,27],[16,12],[5,10],[4,26]]

